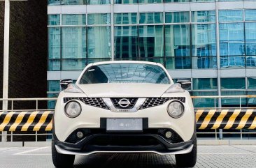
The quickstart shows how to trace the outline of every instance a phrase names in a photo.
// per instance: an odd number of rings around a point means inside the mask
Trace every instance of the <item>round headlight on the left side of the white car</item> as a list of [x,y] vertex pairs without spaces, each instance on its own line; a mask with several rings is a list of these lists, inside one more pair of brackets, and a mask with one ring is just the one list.
[[79,116],[81,111],[82,111],[82,108],[80,104],[76,101],[68,102],[65,106],[65,114],[66,116],[69,116],[71,118],[75,118]]

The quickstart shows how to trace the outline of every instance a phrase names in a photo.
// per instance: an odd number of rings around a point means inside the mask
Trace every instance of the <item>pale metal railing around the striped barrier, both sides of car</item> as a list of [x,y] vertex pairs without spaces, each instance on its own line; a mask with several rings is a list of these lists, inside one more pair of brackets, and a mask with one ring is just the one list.
[[[197,107],[194,109],[235,109],[238,107],[217,107],[217,103],[216,101],[218,100],[218,98],[239,98],[239,108],[240,109],[256,109],[256,105],[255,107],[242,107],[241,104],[241,99],[243,98],[256,98],[256,96],[191,96],[192,99],[197,99],[197,98],[209,98],[209,99],[214,99],[214,107]],[[38,102],[39,101],[49,101],[49,100],[57,100],[57,98],[8,98],[8,99],[0,99],[1,101],[8,101],[10,102],[10,109],[8,109],[8,112],[24,112],[24,111],[46,111],[46,110],[54,110],[54,109],[39,109],[38,108]],[[20,102],[20,101],[34,101],[35,103],[35,109],[15,109],[14,105],[15,102]],[[0,110],[0,112],[3,112],[3,110]],[[6,111],[5,111],[6,112]],[[240,135],[239,139],[244,139],[243,135],[256,135],[256,131],[255,132],[243,132],[243,130],[240,130],[239,132],[220,132],[218,130],[214,130],[214,132],[197,132],[197,135],[214,135],[214,139],[218,139],[218,135],[222,133],[223,135]],[[4,136],[9,136],[10,137],[10,142],[13,142],[13,137],[15,136],[34,136],[35,137],[35,141],[38,142],[38,136],[48,136],[50,137],[52,135],[51,132],[31,132],[31,133],[15,133],[13,131],[8,132],[7,134],[5,134]],[[1,132],[0,137],[3,136],[3,132]],[[255,136],[256,138],[256,136]]]

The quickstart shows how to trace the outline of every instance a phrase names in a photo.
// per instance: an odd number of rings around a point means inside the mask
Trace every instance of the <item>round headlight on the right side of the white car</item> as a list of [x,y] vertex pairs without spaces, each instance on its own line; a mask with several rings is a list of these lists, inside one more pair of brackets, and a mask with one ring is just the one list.
[[173,101],[168,105],[167,112],[171,117],[178,119],[184,113],[184,106],[181,102]]

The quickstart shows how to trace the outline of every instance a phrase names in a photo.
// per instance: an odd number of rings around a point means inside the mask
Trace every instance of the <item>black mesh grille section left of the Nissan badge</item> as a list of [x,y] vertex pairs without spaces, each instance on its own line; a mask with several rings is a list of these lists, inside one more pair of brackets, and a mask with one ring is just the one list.
[[68,102],[69,100],[80,100],[81,102],[84,102],[85,105],[91,105],[102,109],[108,109],[108,106],[106,106],[102,98],[63,98],[63,100],[64,103]]

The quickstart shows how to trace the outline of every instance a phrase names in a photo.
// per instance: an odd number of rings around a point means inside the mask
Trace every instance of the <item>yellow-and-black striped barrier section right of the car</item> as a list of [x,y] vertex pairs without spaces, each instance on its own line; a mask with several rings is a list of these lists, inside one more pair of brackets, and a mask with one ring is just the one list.
[[256,109],[198,109],[197,129],[250,129],[256,128]]

